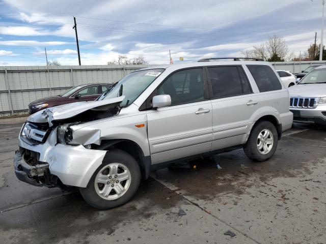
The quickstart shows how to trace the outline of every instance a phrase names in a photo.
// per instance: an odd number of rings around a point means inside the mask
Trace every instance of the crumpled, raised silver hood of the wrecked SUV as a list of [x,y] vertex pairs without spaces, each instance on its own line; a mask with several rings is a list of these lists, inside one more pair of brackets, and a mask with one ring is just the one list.
[[117,106],[124,98],[125,96],[121,96],[101,101],[76,102],[46,108],[30,115],[27,121],[32,123],[48,123],[51,127],[53,126],[53,121],[71,118],[89,110],[104,111],[105,109],[102,108],[107,108],[108,106],[106,105],[111,105],[111,107]]

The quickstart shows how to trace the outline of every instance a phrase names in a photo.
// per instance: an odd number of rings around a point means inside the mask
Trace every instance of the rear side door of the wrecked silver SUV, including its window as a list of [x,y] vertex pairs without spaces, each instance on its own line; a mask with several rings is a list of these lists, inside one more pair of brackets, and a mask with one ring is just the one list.
[[246,141],[254,113],[259,109],[241,66],[207,67],[212,90],[212,150],[239,145]]

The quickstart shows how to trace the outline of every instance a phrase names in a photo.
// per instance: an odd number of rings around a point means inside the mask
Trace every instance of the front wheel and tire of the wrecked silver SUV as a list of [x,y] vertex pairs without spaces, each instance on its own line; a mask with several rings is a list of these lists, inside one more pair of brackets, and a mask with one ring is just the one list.
[[[101,175],[99,175],[100,171]],[[121,182],[117,182],[118,179],[121,179]],[[141,171],[137,161],[125,151],[113,149],[107,152],[102,164],[88,182],[88,186],[79,188],[79,191],[88,204],[105,210],[128,202],[137,192],[140,180]]]

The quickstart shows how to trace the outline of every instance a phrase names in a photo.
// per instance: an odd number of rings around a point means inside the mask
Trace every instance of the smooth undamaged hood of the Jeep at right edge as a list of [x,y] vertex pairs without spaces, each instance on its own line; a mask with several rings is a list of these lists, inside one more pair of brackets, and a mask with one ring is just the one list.
[[289,87],[289,94],[290,97],[326,97],[326,83],[293,85]]

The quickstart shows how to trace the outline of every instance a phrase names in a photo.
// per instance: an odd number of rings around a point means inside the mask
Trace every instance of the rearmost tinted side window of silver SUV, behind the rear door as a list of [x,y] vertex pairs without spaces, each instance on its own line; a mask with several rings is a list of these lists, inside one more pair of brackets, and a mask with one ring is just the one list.
[[280,90],[282,85],[275,75],[273,69],[267,65],[247,65],[250,73],[254,77],[259,92],[269,92],[270,90]]

